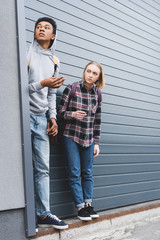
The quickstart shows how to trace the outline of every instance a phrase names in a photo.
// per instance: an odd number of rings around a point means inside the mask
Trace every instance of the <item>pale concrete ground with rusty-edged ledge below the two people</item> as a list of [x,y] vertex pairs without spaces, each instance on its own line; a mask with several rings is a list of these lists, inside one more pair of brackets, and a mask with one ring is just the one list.
[[37,240],[160,240],[160,200],[99,212],[98,219],[66,219],[69,229],[38,229]]

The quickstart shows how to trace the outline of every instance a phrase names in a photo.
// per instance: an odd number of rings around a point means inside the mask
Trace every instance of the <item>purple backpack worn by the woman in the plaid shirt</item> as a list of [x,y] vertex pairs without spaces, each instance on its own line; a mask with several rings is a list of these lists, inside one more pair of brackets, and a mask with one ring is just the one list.
[[[74,97],[77,85],[78,85],[78,82],[74,82],[72,84],[71,91],[69,93],[68,105],[69,105],[69,102],[72,99],[72,97]],[[98,105],[99,105],[100,102],[102,101],[102,93],[98,88],[97,88],[97,92],[98,92]],[[63,132],[65,130],[65,120],[63,118],[58,118],[57,117],[57,124],[58,124],[58,142],[59,142],[60,138],[62,137]]]

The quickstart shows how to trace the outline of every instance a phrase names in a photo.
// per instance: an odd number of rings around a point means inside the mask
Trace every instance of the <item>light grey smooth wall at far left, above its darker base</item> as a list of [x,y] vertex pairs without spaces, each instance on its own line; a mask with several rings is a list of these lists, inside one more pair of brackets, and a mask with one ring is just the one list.
[[0,2],[0,210],[8,210],[25,202],[15,1]]

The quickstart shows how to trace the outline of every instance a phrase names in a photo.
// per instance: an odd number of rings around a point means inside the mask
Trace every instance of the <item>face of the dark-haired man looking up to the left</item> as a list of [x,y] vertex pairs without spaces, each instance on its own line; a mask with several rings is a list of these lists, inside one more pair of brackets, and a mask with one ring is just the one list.
[[54,40],[53,26],[49,22],[39,22],[35,29],[34,38],[38,42]]

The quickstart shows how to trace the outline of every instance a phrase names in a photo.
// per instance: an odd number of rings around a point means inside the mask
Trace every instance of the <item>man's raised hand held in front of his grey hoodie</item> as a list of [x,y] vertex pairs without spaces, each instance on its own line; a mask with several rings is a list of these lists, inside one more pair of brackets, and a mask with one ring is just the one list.
[[40,81],[40,84],[42,85],[42,87],[49,87],[49,88],[59,88],[63,82],[64,82],[65,77],[50,77],[50,78],[46,78],[42,81]]

